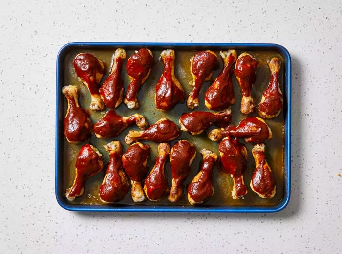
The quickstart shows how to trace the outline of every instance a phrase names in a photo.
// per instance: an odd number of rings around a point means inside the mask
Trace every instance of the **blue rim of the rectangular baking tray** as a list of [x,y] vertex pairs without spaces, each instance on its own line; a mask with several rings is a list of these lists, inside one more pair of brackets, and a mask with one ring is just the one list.
[[[276,206],[179,206],[179,205],[74,205],[68,203],[64,198],[62,180],[59,179],[60,170],[60,138],[61,120],[59,107],[61,103],[60,68],[63,66],[63,54],[70,48],[106,48],[106,47],[226,47],[226,48],[274,48],[277,49],[285,59],[285,82],[284,82],[284,102],[287,104],[285,116],[285,154],[284,154],[284,197]],[[271,43],[125,43],[125,42],[73,42],[64,45],[57,55],[56,72],[56,156],[55,156],[55,191],[57,202],[64,209],[69,211],[84,212],[221,212],[221,213],[269,213],[278,212],[286,207],[290,200],[291,184],[291,57],[287,49],[278,44]],[[62,82],[62,81],[61,81]],[[63,118],[63,117],[62,117]]]

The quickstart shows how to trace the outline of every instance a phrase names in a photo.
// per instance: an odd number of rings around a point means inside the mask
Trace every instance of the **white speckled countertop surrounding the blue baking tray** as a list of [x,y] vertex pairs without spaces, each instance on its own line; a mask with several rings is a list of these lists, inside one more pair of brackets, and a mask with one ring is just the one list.
[[[0,253],[341,253],[341,1],[142,2],[1,1]],[[285,46],[293,61],[288,207],[276,214],[94,214],[59,207],[55,60],[72,41]]]

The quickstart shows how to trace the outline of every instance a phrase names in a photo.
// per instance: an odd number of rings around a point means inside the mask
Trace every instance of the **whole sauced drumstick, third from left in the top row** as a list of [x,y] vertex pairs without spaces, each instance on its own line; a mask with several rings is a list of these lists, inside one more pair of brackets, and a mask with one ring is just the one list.
[[149,49],[142,48],[135,51],[126,64],[126,70],[130,79],[124,103],[130,109],[139,108],[137,99],[142,84],[149,77],[154,64],[153,54]]

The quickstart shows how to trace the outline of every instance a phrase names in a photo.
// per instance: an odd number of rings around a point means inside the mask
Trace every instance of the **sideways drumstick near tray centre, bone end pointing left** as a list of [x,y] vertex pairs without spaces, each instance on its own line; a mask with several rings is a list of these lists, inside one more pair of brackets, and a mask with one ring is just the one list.
[[178,126],[166,118],[162,118],[150,125],[145,131],[129,131],[125,143],[130,144],[138,140],[151,140],[157,143],[166,142],[180,135]]

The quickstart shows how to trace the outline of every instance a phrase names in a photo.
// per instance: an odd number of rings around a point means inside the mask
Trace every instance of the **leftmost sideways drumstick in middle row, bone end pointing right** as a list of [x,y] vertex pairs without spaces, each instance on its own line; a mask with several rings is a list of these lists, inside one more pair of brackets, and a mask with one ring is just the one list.
[[94,124],[94,132],[98,138],[113,138],[118,136],[128,126],[136,124],[144,130],[148,123],[144,116],[134,114],[129,117],[121,117],[114,109],[109,110],[104,117]]

